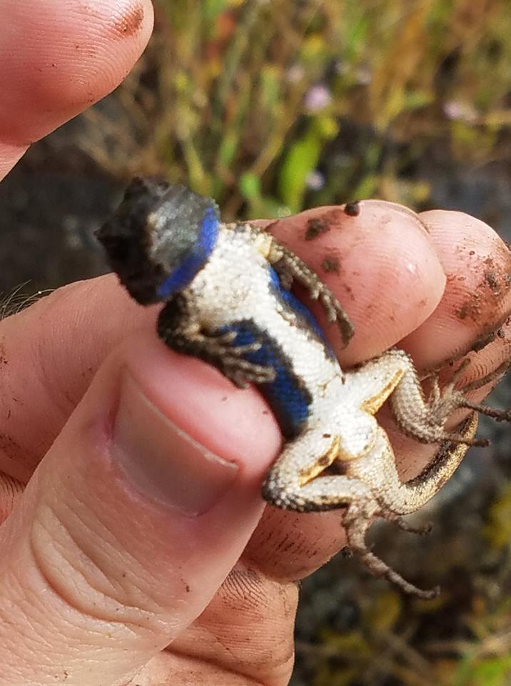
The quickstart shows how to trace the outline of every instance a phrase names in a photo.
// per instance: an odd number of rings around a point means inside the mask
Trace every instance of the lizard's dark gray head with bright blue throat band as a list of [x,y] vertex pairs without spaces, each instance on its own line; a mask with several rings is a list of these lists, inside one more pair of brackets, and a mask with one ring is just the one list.
[[185,186],[133,179],[96,236],[108,262],[141,304],[161,302],[186,287],[215,247],[216,203]]

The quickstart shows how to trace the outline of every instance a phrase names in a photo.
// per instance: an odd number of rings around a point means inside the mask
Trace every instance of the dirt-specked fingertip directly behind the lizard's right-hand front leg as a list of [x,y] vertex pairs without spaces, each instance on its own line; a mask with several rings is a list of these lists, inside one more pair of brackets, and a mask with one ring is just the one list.
[[[271,225],[275,237],[314,269],[338,298],[355,327],[340,354],[353,364],[379,354],[408,335],[437,307],[445,274],[418,216],[381,201],[362,201],[358,214],[322,207]],[[333,327],[321,324],[340,340]]]

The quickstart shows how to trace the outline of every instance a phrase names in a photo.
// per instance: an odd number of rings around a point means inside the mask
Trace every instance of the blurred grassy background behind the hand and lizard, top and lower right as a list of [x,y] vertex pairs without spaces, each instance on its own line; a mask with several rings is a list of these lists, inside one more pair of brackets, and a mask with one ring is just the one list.
[[[102,272],[92,231],[134,174],[211,194],[226,219],[382,197],[509,238],[510,124],[510,0],[156,0],[123,86],[1,184],[0,289]],[[436,534],[375,531],[442,595],[404,598],[333,560],[302,587],[293,686],[511,685],[509,439],[485,433],[418,515]]]

